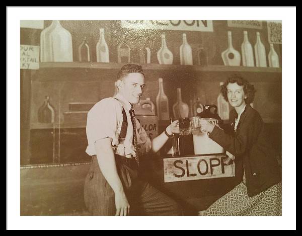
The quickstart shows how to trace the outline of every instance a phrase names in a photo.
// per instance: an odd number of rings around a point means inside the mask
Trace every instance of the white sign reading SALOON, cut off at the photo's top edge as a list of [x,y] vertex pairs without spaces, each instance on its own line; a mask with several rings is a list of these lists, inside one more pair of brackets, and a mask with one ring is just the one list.
[[121,21],[122,28],[213,32],[212,21]]

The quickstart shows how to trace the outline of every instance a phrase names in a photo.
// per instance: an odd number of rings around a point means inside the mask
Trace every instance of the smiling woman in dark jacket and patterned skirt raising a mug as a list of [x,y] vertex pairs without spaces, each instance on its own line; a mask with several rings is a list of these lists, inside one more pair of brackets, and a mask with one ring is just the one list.
[[[243,178],[202,215],[281,215],[281,173],[273,148],[266,140],[264,123],[250,103],[254,86],[243,77],[232,75],[221,86],[221,93],[234,107],[230,112],[232,132],[226,132],[201,119],[202,131],[236,159],[243,161]],[[234,131],[233,131],[234,130]]]

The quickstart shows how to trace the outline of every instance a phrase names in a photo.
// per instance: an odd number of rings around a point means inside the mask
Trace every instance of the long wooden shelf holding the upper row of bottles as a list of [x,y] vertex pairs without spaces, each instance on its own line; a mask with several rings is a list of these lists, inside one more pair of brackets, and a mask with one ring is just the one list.
[[[120,69],[124,63],[101,62],[40,62],[40,68],[86,68],[86,69]],[[200,72],[282,72],[281,68],[249,67],[249,66],[225,66],[225,65],[161,65],[142,64],[144,70],[184,70]]]

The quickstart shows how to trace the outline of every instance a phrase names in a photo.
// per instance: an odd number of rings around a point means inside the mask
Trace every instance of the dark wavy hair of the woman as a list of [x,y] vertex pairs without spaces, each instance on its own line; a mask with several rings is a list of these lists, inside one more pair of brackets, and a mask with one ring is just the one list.
[[250,104],[254,101],[255,92],[256,92],[256,90],[254,89],[254,86],[251,85],[247,80],[245,80],[245,78],[243,78],[239,74],[230,75],[228,77],[228,80],[226,80],[226,82],[224,82],[224,84],[221,85],[220,92],[225,101],[227,101],[227,102],[229,101],[228,100],[228,89],[226,89],[226,86],[228,86],[230,83],[231,84],[237,83],[237,85],[243,86],[243,91],[245,93],[245,96],[247,97],[245,99],[246,104]]

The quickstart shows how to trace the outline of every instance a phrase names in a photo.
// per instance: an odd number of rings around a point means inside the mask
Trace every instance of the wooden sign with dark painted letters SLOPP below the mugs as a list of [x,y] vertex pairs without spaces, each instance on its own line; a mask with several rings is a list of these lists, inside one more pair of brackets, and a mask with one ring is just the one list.
[[234,177],[235,162],[232,165],[225,165],[224,159],[226,156],[223,154],[164,159],[165,183]]

